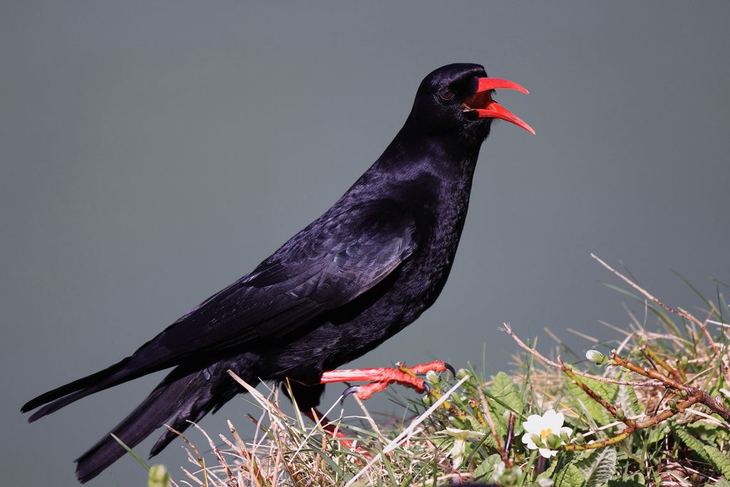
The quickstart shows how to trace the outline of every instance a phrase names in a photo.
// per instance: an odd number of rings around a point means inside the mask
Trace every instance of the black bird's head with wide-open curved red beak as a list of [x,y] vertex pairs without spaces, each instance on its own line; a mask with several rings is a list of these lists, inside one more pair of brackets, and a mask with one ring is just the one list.
[[448,64],[431,72],[418,87],[410,123],[423,131],[458,134],[482,142],[495,118],[507,120],[532,134],[535,131],[517,115],[492,99],[496,89],[525,88],[508,80],[487,76],[479,64]]

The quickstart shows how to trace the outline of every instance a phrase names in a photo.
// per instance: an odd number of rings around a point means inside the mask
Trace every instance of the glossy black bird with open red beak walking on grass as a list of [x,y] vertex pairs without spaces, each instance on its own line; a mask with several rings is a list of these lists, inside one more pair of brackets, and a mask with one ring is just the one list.
[[[162,369],[164,380],[112,433],[134,446],[167,423],[215,412],[241,389],[228,369],[253,383],[291,380],[299,408],[311,412],[324,383],[368,380],[369,396],[388,383],[423,391],[398,369],[326,372],[388,340],[441,292],[464,228],[479,149],[493,119],[531,131],[496,104],[496,88],[527,93],[487,77],[483,66],[450,64],[420,83],[403,128],[380,158],[320,218],[272,256],[136,352],[107,369],[32,399],[29,421],[77,399]],[[413,368],[442,371],[443,362]],[[174,439],[169,431],[150,456]],[[77,459],[83,483],[125,450],[104,436]]]

